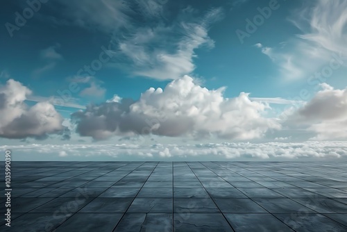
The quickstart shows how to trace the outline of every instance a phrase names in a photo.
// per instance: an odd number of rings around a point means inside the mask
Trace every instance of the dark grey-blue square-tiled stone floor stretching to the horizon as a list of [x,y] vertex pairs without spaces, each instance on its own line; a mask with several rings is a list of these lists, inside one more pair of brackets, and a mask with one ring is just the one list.
[[11,213],[0,231],[346,232],[347,163],[15,162]]

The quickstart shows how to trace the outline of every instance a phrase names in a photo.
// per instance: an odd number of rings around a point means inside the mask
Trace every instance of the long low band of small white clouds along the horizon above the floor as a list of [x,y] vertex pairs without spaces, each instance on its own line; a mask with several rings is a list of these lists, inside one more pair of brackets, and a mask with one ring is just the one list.
[[303,160],[305,158],[346,159],[346,142],[223,142],[208,144],[26,144],[0,146],[0,149],[15,149],[17,153],[51,154],[57,158],[109,156],[116,160],[129,157],[146,160]]

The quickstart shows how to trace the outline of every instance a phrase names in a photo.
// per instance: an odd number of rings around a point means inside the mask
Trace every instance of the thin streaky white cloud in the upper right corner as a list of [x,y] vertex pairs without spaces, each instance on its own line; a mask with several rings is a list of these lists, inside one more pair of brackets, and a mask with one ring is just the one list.
[[300,35],[282,43],[281,47],[255,46],[278,65],[282,78],[309,78],[337,56],[342,57],[340,60],[347,56],[346,15],[347,2],[344,0],[318,0],[314,1],[314,6],[311,2],[306,3],[291,19],[301,29]]

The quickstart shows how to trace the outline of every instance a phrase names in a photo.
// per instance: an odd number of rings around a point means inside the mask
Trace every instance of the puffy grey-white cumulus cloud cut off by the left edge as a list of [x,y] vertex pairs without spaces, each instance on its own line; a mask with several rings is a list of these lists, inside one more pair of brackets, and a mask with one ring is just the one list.
[[0,85],[0,137],[44,138],[62,130],[62,117],[51,103],[26,106],[24,101],[30,94],[31,90],[12,79]]

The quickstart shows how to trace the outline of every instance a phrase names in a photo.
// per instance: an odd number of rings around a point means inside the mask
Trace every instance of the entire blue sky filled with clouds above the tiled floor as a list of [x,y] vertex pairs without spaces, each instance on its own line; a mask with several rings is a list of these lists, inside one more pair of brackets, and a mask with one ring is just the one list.
[[0,9],[0,147],[17,160],[347,156],[346,1]]

